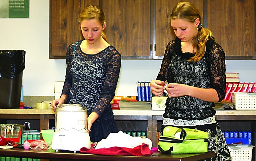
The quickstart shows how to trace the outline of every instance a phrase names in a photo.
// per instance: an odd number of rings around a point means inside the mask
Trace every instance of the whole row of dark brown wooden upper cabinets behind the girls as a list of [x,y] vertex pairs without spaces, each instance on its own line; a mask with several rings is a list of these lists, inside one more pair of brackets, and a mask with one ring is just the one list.
[[[78,15],[89,4],[99,5],[106,18],[108,42],[122,59],[162,59],[175,35],[170,13],[181,0],[51,0],[50,58],[65,58],[72,42],[81,40]],[[256,0],[191,0],[203,14],[226,59],[254,59]]]

